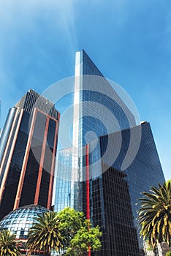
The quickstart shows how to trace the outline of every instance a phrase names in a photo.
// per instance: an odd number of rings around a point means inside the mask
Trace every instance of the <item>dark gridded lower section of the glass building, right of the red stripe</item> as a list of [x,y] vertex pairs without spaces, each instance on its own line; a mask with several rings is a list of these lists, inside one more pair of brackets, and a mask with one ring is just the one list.
[[[89,182],[91,222],[102,230],[99,256],[139,255],[126,174],[113,167]],[[86,185],[86,190],[88,187]],[[87,202],[88,211],[88,202]]]

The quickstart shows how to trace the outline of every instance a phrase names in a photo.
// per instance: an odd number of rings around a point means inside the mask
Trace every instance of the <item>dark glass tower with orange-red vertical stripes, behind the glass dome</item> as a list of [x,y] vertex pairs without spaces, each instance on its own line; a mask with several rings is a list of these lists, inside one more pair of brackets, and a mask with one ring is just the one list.
[[0,219],[21,206],[51,207],[59,113],[33,90],[9,110],[0,143]]

